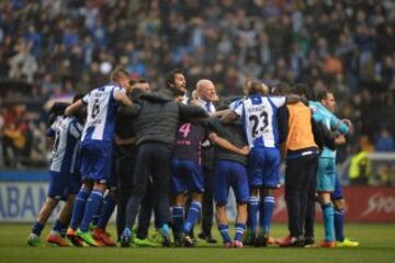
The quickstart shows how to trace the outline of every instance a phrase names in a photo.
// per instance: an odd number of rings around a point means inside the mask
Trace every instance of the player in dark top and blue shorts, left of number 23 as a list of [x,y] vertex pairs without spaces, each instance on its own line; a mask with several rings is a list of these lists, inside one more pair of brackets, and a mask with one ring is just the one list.
[[[240,101],[239,101],[240,102]],[[216,218],[218,230],[226,248],[242,248],[242,236],[246,231],[247,222],[247,202],[249,198],[249,185],[247,176],[247,155],[248,145],[244,136],[244,129],[240,122],[234,122],[224,125],[219,119],[214,118],[211,124],[216,134],[234,146],[244,149],[244,151],[229,151],[215,144],[215,164],[212,176],[212,186],[214,201],[216,203]],[[211,138],[213,140],[213,138]],[[234,190],[237,203],[237,218],[235,238],[229,236],[228,219],[226,215],[226,205],[228,202],[229,188]]]

